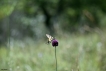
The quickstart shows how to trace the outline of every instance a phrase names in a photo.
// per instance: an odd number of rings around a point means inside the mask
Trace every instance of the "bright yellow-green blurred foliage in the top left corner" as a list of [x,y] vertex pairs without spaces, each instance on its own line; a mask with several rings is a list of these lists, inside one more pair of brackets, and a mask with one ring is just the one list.
[[14,10],[16,3],[10,0],[0,0],[0,20],[10,16]]

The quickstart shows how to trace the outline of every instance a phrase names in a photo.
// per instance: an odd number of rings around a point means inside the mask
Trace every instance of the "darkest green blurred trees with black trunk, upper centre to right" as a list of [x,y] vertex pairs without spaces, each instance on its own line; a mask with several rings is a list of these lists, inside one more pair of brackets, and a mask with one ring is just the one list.
[[53,33],[55,23],[60,20],[67,30],[83,25],[99,26],[97,11],[105,12],[105,6],[101,0],[31,0],[26,2],[24,11],[29,17],[43,13],[45,26]]

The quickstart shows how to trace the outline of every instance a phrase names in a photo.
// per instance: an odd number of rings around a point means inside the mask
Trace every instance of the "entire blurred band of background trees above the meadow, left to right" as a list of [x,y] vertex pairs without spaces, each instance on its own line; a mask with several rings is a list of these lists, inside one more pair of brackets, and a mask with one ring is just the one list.
[[9,34],[7,26],[11,27],[11,36],[35,36],[33,23],[41,15],[44,22],[40,21],[51,34],[56,32],[57,24],[66,31],[99,27],[98,11],[106,12],[105,3],[105,0],[0,0],[0,38],[4,32]]

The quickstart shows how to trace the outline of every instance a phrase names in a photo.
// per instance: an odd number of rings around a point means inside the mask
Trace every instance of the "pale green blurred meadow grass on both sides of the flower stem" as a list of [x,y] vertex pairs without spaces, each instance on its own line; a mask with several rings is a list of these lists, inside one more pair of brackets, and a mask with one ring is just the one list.
[[[93,32],[57,36],[58,71],[105,71],[106,34]],[[13,40],[10,49],[0,48],[0,69],[12,71],[54,71],[55,49],[45,41]]]

